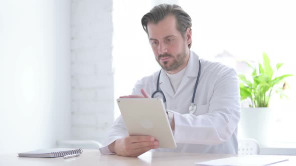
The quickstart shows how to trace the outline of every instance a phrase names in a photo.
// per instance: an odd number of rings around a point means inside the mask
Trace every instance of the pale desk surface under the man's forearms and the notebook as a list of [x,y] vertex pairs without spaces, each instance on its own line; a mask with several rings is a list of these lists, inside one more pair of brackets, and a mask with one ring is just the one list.
[[[235,156],[232,154],[197,154],[197,153],[174,153],[174,152],[146,152],[139,157],[123,157],[118,155],[101,155],[99,150],[85,149],[78,157],[64,159],[56,158],[32,158],[17,157],[17,154],[0,154],[0,165],[95,165],[95,166],[125,166],[125,165],[195,165],[210,159]],[[239,155],[243,156],[243,155]],[[288,156],[289,160],[274,165],[296,165],[296,156]]]

